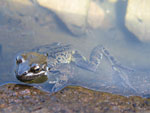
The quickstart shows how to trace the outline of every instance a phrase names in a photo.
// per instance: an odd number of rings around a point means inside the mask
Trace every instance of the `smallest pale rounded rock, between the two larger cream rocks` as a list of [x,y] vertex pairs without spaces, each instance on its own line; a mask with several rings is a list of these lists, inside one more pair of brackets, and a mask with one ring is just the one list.
[[88,25],[93,29],[101,27],[102,22],[104,21],[104,16],[104,10],[101,9],[95,2],[91,2],[87,18]]

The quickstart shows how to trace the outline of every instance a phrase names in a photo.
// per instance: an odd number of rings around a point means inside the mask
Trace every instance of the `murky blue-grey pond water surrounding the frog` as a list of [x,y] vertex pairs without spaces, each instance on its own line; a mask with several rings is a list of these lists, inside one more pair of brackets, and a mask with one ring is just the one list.
[[[142,43],[124,26],[126,2],[114,5],[101,1],[107,9],[105,24],[96,30],[87,28],[86,35],[73,36],[49,10],[33,4],[9,5],[2,0],[0,7],[0,84],[19,83],[15,76],[15,59],[19,52],[37,46],[62,42],[89,59],[94,47],[103,45],[119,64],[126,68],[114,71],[108,59],[103,58],[96,72],[75,67],[73,77],[66,85],[83,86],[97,91],[121,95],[150,94],[150,44]],[[5,5],[3,5],[5,4]],[[13,7],[16,6],[16,7]],[[23,7],[21,10],[17,6]],[[120,6],[122,10],[120,10]],[[30,84],[32,85],[32,84]],[[33,84],[43,90],[51,87],[47,83]]]

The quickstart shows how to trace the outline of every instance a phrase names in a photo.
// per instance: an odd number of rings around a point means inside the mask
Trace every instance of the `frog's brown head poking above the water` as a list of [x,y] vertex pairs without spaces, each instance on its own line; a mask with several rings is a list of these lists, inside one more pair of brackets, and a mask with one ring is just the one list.
[[48,70],[45,55],[28,52],[16,58],[16,77],[22,82],[41,83],[47,80]]

